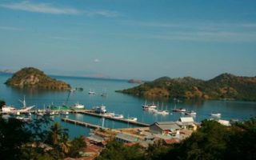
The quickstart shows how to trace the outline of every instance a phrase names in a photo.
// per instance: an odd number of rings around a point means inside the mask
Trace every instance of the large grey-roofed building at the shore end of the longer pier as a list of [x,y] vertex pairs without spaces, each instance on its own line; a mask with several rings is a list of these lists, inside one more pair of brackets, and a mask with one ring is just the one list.
[[150,133],[152,134],[176,134],[181,127],[176,122],[154,122],[150,125]]

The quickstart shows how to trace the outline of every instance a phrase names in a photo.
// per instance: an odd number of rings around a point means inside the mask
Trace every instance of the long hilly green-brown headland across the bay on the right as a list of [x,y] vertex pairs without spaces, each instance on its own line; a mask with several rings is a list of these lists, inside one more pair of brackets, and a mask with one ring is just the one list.
[[127,90],[124,94],[146,97],[232,99],[256,101],[256,77],[220,74],[203,81],[196,78],[162,77]]

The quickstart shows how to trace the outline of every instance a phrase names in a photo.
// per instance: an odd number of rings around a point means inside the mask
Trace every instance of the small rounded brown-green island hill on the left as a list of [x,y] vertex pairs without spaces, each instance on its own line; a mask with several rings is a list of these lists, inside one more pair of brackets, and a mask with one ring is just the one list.
[[70,85],[66,82],[58,81],[46,76],[41,70],[33,67],[26,67],[16,72],[9,78],[7,86],[17,88],[35,88],[44,90],[70,90]]

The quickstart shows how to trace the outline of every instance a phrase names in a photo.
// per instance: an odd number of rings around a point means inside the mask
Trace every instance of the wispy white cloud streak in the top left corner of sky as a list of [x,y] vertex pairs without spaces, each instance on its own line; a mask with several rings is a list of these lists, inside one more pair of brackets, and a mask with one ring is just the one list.
[[0,6],[11,10],[25,10],[44,14],[81,14],[81,10],[52,6],[49,3],[31,3],[28,1],[1,4]]

